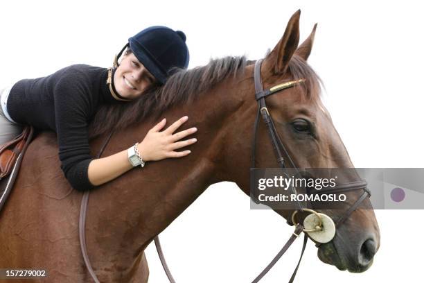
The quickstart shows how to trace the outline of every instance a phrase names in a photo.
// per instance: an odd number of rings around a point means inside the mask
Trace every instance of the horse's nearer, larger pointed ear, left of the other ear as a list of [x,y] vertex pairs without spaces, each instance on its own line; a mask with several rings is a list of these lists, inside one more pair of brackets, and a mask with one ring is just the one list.
[[290,18],[283,37],[274,47],[265,62],[273,67],[274,74],[283,74],[288,68],[288,62],[299,44],[299,18],[300,10],[297,10]]

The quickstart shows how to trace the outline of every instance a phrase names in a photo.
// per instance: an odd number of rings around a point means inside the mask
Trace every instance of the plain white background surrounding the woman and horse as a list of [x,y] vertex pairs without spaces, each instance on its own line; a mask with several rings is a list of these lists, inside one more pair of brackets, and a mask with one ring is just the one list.
[[[224,55],[262,58],[301,8],[301,42],[318,22],[309,62],[324,80],[324,101],[355,166],[423,167],[419,1],[293,2],[2,1],[0,86],[75,63],[109,67],[127,38],[151,25],[186,33],[190,67]],[[366,273],[322,263],[310,244],[297,282],[420,280],[423,214],[376,211],[381,247]],[[274,212],[250,210],[249,198],[224,182],[188,207],[161,241],[177,282],[249,282],[291,232]],[[301,240],[263,282],[288,281],[300,249]],[[166,282],[153,245],[147,256],[150,282]]]

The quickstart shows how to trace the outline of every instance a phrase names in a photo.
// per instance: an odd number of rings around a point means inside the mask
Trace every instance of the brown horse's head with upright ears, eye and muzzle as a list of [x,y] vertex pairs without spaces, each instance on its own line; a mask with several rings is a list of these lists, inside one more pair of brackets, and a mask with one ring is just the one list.
[[[321,103],[319,78],[306,62],[312,49],[316,25],[305,42],[298,46],[299,16],[300,11],[294,13],[283,37],[263,60],[260,76],[264,89],[301,78],[306,81],[267,96],[267,109],[294,166],[352,168],[346,148]],[[254,90],[249,91],[252,101]],[[285,157],[287,160],[287,156]],[[287,165],[291,166],[289,162]],[[261,120],[256,140],[256,167],[277,167],[267,127]],[[351,176],[346,176],[346,179],[354,181]],[[347,192],[352,203],[346,204],[345,209],[326,209],[320,212],[336,220],[362,193],[362,190]],[[365,207],[368,209],[364,209]],[[332,241],[319,246],[318,256],[321,261],[351,272],[362,272],[371,266],[373,255],[380,246],[380,232],[369,198],[359,208],[337,227]],[[276,209],[276,212],[288,220],[292,214],[290,210]]]

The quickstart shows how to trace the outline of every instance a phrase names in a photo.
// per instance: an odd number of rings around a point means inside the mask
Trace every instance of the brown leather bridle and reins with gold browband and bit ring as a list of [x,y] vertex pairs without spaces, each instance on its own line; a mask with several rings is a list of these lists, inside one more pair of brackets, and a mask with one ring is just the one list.
[[[270,89],[263,90],[262,80],[260,78],[260,66],[261,65],[262,65],[262,60],[258,60],[258,61],[256,61],[255,67],[254,67],[255,98],[256,98],[256,101],[258,101],[258,112],[256,114],[256,120],[255,120],[255,123],[254,123],[254,139],[253,139],[252,154],[251,154],[251,168],[253,169],[253,168],[256,167],[256,163],[255,163],[255,160],[256,160],[256,136],[257,136],[257,131],[258,131],[259,117],[262,116],[263,121],[265,122],[265,125],[267,126],[268,134],[270,135],[270,139],[272,141],[272,146],[274,148],[274,153],[276,155],[276,161],[279,163],[279,166],[281,167],[281,169],[286,168],[285,158],[283,157],[283,156],[285,156],[287,158],[287,160],[290,162],[292,168],[297,169],[297,166],[295,166],[295,164],[294,164],[292,158],[290,157],[290,155],[288,154],[288,151],[286,150],[284,144],[281,142],[281,139],[279,137],[278,132],[276,131],[276,128],[274,126],[274,121],[272,121],[272,117],[270,115],[270,112],[267,109],[267,105],[265,103],[265,98],[267,96],[275,94],[276,92],[281,92],[283,89],[288,89],[290,87],[294,87],[295,85],[297,85],[299,83],[303,83],[305,81],[305,79],[302,78],[300,80],[292,80],[290,82],[281,83],[280,85],[276,85],[274,87],[271,87]],[[103,153],[103,151],[105,150],[107,143],[109,142],[109,139],[112,137],[112,134],[113,134],[113,131],[110,132],[107,139],[105,139],[105,142],[103,143],[103,146],[100,149],[97,157],[100,157],[101,154]],[[366,189],[366,182],[363,181],[363,180],[359,180],[357,182],[351,182],[351,183],[344,184],[344,185],[339,185],[339,186],[337,186],[333,189],[325,189],[325,190],[321,190],[321,191],[318,191],[318,192],[315,193],[315,194],[326,194],[326,193],[331,192],[333,194],[333,193],[337,193],[337,192],[353,191],[353,190],[357,190],[357,189],[362,189],[362,190],[364,190],[364,192],[362,193],[360,198],[358,198],[355,201],[355,203],[353,203],[353,205],[351,207],[349,207],[349,209],[347,209],[346,212],[344,212],[344,214],[340,218],[337,219],[337,221],[335,221],[335,223],[333,222],[333,220],[329,216],[326,216],[326,214],[315,212],[315,210],[312,210],[308,207],[303,207],[303,205],[299,201],[297,201],[297,209],[294,210],[294,212],[292,213],[292,217],[290,219],[288,219],[288,223],[290,225],[295,226],[294,232],[292,233],[290,239],[288,239],[288,241],[285,243],[283,248],[281,248],[279,253],[274,257],[274,259],[272,259],[270,264],[268,264],[264,268],[264,270],[252,281],[252,283],[259,282],[259,280],[263,276],[265,276],[265,274],[268,271],[270,271],[272,266],[274,266],[274,264],[276,264],[276,262],[283,256],[283,254],[288,250],[288,248],[290,248],[290,246],[292,245],[294,240],[297,239],[298,237],[300,237],[301,232],[305,232],[304,237],[303,237],[303,246],[302,246],[302,250],[301,250],[301,256],[299,258],[299,261],[298,261],[296,268],[294,269],[292,277],[290,277],[290,281],[289,281],[289,282],[293,282],[294,277],[296,276],[297,270],[299,269],[299,265],[300,265],[301,259],[303,257],[303,252],[305,251],[305,248],[306,248],[306,243],[308,241],[308,235],[309,235],[309,237],[312,238],[313,237],[312,233],[325,230],[326,226],[324,225],[324,223],[328,223],[328,221],[330,221],[330,223],[333,223],[335,228],[338,228],[340,225],[342,225],[342,223],[344,223],[344,221],[346,221],[346,219],[352,214],[352,212],[354,212],[355,209],[357,209],[357,207],[359,207],[359,205],[362,203],[362,201],[365,200],[365,198],[371,196],[371,192],[369,191],[369,189]],[[291,190],[292,190],[293,194],[297,194],[296,188],[291,187]],[[91,268],[91,264],[90,264],[88,253],[87,253],[87,247],[86,247],[86,243],[85,243],[85,218],[86,218],[86,214],[87,214],[88,199],[89,199],[89,191],[86,191],[84,196],[82,197],[81,209],[80,209],[80,225],[79,225],[80,246],[81,246],[83,259],[85,261],[87,269],[89,270],[89,274],[91,275],[91,278],[94,280],[94,282],[98,283],[100,281],[96,277],[96,274],[94,273],[93,268]],[[312,227],[312,229],[306,229],[304,227],[304,225],[302,225],[301,223],[297,223],[295,216],[297,215],[298,212],[310,212],[310,215],[307,216],[306,218],[308,218],[310,216],[315,216],[316,217],[315,220],[317,220],[317,225],[315,225],[315,227]],[[306,222],[306,218],[305,218],[304,223]],[[321,244],[321,242],[317,241],[316,239],[315,239],[315,241],[317,242],[317,246],[319,246]],[[171,283],[175,283],[175,280],[173,279],[173,275],[171,275],[169,268],[168,268],[168,265],[166,264],[166,261],[165,261],[165,258],[164,258],[164,253],[161,250],[161,244],[160,244],[160,241],[159,241],[159,236],[154,238],[154,243],[156,245],[157,252],[159,253],[159,258],[161,259],[161,264],[164,267],[165,273],[168,276],[169,281]]]

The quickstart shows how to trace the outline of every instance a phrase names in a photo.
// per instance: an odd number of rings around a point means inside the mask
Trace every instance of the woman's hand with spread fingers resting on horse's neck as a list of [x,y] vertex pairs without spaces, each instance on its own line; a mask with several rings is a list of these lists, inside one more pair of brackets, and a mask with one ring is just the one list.
[[151,128],[147,135],[145,135],[143,141],[138,146],[143,161],[150,160],[163,160],[168,157],[183,157],[191,153],[191,151],[175,151],[184,146],[194,144],[197,139],[186,139],[179,141],[180,139],[187,137],[195,132],[197,128],[190,128],[181,132],[175,132],[179,126],[182,126],[188,120],[187,116],[175,121],[166,130],[160,132],[166,125],[166,119],[160,121],[156,126]]

